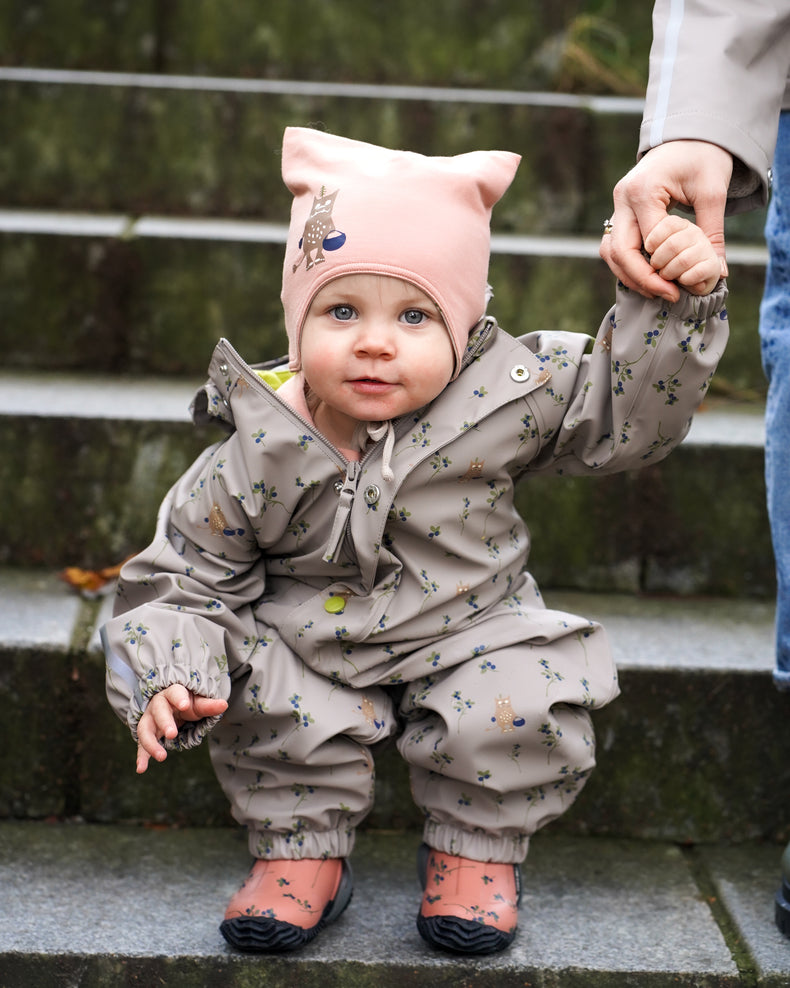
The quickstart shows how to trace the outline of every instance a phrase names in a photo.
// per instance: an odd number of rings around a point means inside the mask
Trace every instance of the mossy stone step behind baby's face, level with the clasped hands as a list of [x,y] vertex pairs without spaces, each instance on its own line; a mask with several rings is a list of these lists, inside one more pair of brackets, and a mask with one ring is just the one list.
[[[491,312],[514,334],[594,333],[614,299],[598,230],[519,229],[494,236]],[[286,349],[285,234],[281,222],[2,210],[5,366],[202,376],[219,336],[276,356]],[[766,256],[764,245],[730,241],[732,335],[715,379],[727,394],[765,392],[757,317]]]

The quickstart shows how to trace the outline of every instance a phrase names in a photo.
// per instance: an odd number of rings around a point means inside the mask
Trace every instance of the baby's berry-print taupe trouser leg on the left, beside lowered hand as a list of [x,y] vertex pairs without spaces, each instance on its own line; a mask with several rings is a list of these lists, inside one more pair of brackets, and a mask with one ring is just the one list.
[[234,683],[214,770],[260,858],[347,857],[372,805],[369,746],[395,729],[386,694],[343,687],[284,644]]

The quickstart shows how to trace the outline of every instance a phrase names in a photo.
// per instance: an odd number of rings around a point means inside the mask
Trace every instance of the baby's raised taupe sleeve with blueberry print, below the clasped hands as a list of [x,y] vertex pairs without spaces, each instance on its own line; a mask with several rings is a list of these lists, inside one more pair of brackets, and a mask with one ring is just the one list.
[[528,341],[552,371],[553,402],[536,416],[543,446],[530,471],[617,473],[663,459],[688,432],[724,351],[726,297],[723,281],[706,296],[681,289],[673,305],[618,285],[585,351],[562,334]]

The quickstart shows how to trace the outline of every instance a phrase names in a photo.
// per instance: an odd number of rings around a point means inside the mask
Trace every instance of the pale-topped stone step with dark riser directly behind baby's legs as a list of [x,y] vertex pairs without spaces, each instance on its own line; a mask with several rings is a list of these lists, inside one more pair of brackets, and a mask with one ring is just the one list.
[[[679,842],[786,840],[790,696],[772,685],[773,605],[545,590],[601,620],[623,695],[594,714],[598,768],[566,835]],[[0,573],[0,818],[227,825],[206,746],[134,773],[134,746],[104,696],[98,627],[109,597],[55,575]],[[394,750],[377,760],[366,826],[419,830]]]

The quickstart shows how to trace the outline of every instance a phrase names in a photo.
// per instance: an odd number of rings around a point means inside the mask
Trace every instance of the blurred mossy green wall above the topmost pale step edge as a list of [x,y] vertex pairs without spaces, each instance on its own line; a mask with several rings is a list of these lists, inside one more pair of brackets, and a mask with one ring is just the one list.
[[0,62],[639,94],[650,10],[622,0],[2,0]]

